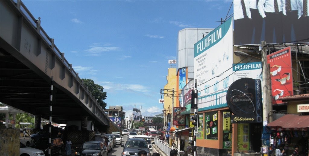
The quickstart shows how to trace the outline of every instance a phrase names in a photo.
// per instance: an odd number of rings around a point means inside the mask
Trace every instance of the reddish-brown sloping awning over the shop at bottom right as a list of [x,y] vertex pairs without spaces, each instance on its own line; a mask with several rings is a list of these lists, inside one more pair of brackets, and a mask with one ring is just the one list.
[[272,130],[307,130],[309,115],[287,114],[267,124]]

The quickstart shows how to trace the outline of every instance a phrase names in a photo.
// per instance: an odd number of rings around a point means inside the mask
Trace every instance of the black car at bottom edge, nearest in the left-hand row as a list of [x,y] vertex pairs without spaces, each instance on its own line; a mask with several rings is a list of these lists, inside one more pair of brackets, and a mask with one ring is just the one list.
[[107,156],[107,147],[101,141],[88,141],[84,142],[77,148],[75,155],[82,156]]

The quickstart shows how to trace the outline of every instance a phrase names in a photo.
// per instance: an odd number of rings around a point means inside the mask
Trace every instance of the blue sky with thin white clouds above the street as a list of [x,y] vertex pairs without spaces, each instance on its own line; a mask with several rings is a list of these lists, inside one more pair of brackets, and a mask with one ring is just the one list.
[[162,113],[160,89],[180,30],[216,28],[233,13],[232,0],[22,2],[79,77],[103,86],[106,108],[123,106],[126,117],[135,107],[142,116]]

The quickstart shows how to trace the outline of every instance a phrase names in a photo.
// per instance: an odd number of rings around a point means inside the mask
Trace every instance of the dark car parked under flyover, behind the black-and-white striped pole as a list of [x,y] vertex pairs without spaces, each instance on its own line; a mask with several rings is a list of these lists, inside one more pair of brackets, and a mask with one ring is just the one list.
[[[33,148],[39,149],[44,151],[45,155],[48,155],[48,147],[49,147],[49,143],[48,143],[49,137],[41,137],[40,139],[38,139],[34,145],[32,146]],[[51,139],[51,150],[50,153],[51,154],[61,154],[61,150],[64,149],[64,143],[62,141],[61,138],[52,138]]]

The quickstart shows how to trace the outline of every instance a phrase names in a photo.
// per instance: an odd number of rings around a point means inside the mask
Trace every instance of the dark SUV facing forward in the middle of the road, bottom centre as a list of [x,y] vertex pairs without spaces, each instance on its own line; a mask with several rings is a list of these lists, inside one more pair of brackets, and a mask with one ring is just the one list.
[[121,147],[123,147],[121,156],[138,155],[138,152],[141,150],[145,150],[147,152],[147,156],[151,155],[147,142],[142,138],[130,138],[125,142],[125,144],[121,144]]

